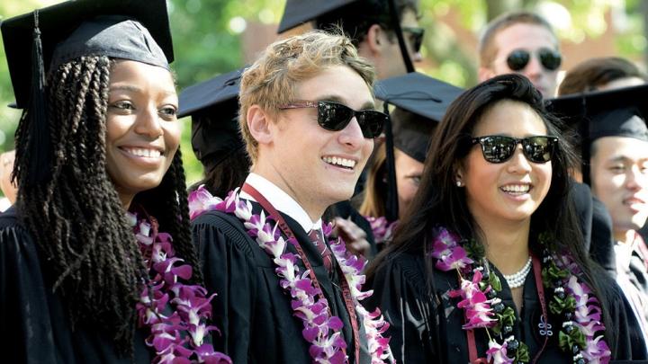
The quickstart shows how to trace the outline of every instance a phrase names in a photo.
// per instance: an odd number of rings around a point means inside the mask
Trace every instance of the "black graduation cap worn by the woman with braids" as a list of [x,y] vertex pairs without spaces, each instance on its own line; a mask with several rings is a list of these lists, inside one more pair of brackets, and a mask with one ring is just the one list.
[[45,75],[81,56],[108,56],[168,67],[173,60],[165,0],[78,0],[0,23],[15,106],[29,110],[30,182],[46,177],[51,146]]

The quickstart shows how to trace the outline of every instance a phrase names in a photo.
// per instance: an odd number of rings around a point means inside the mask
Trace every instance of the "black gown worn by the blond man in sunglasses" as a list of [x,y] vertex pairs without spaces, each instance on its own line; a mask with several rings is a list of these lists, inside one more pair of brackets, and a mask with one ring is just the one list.
[[[253,210],[259,211],[255,202]],[[282,216],[311,262],[332,315],[344,323],[342,333],[349,362],[369,363],[362,324],[358,324],[361,358],[354,358],[351,324],[339,288],[341,277],[329,277],[320,253],[302,226]],[[206,212],[193,220],[193,241],[200,254],[206,288],[218,295],[212,301],[212,312],[221,334],[214,334],[214,347],[228,354],[234,363],[310,363],[310,343],[302,336],[302,320],[293,316],[290,295],[279,286],[276,265],[247,235],[243,223],[220,211]],[[296,253],[291,244],[287,246],[289,252]],[[302,262],[299,266],[301,272],[305,271]]]

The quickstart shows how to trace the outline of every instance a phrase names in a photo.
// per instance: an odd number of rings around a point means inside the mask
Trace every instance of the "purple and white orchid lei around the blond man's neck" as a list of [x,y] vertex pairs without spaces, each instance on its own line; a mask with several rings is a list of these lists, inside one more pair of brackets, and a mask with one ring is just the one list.
[[[271,222],[272,218],[266,217],[265,211],[262,210],[260,215],[253,214],[251,203],[239,199],[238,189],[230,191],[225,200],[220,200],[218,197],[211,196],[211,193],[202,186],[189,195],[189,210],[192,219],[209,210],[234,214],[241,219],[247,228],[247,234],[255,238],[259,247],[274,258],[277,265],[275,271],[280,279],[279,284],[293,297],[291,302],[293,315],[302,320],[302,336],[311,343],[309,353],[312,362],[342,364],[348,361],[345,353],[347,343],[341,333],[342,320],[338,316],[330,315],[329,303],[326,299],[317,298],[320,290],[314,287],[309,271],[300,272],[297,265],[300,256],[285,253],[287,243],[297,244],[297,242],[286,241],[278,225]],[[331,225],[322,224],[322,231],[327,237],[331,229]],[[364,324],[372,364],[383,363],[384,360],[393,362],[389,338],[383,337],[389,324],[383,320],[380,310],[376,309],[374,313],[369,313],[359,302],[373,293],[362,291],[365,276],[361,271],[365,268],[365,262],[348,253],[341,239],[331,242],[330,247],[348,282],[356,312],[361,316]]]

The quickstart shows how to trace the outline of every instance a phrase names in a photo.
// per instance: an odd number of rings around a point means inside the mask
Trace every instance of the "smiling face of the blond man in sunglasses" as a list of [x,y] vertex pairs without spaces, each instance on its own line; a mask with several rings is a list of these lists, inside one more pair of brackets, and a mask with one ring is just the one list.
[[[347,66],[324,68],[296,88],[295,101],[333,101],[349,108],[374,110],[363,78]],[[316,108],[279,111],[269,124],[272,140],[259,143],[255,171],[290,194],[311,215],[353,195],[356,182],[374,149],[354,117],[345,129],[318,124]],[[320,211],[321,210],[321,211]]]

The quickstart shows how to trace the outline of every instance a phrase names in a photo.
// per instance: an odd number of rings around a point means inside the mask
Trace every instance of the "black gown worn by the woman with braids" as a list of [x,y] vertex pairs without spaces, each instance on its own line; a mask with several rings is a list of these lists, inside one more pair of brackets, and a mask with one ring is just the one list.
[[11,208],[0,215],[0,362],[150,363],[153,354],[136,332],[134,361],[117,356],[101,327],[72,330],[62,297],[52,292],[37,245]]

